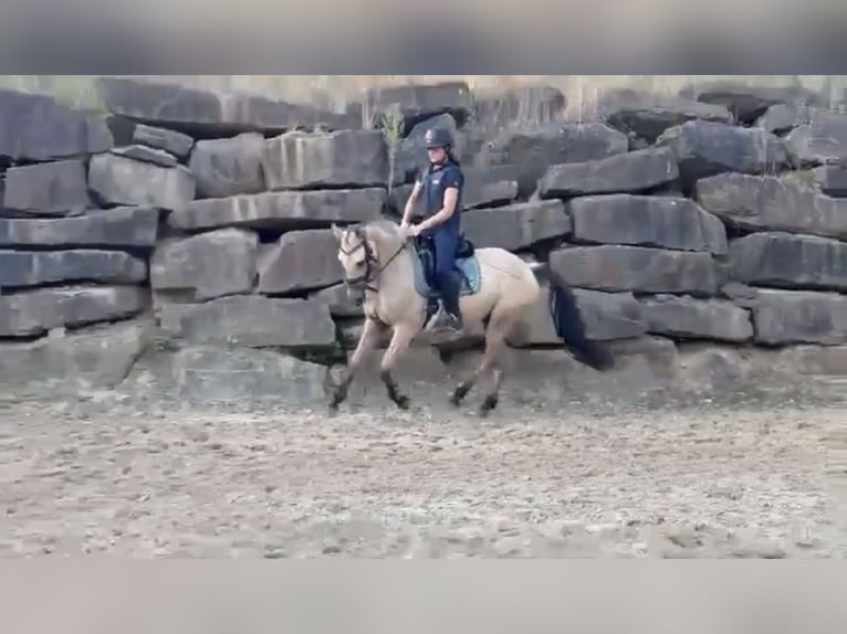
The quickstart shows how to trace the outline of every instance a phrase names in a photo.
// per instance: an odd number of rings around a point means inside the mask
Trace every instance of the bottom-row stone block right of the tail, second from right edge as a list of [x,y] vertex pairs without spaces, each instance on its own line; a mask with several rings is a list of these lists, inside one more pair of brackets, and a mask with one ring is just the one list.
[[656,295],[642,298],[641,307],[653,335],[735,342],[753,337],[750,313],[725,299]]

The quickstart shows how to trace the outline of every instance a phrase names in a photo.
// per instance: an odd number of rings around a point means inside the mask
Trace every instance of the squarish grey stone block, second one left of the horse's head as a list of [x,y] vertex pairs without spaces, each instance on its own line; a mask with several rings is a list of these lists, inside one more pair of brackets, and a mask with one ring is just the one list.
[[241,229],[165,240],[150,256],[150,285],[156,292],[179,292],[190,302],[250,293],[258,251],[259,236]]

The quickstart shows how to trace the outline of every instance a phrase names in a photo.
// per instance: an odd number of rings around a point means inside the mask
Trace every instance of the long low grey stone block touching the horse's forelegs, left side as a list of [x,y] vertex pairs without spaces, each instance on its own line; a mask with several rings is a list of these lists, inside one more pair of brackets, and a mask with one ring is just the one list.
[[326,304],[257,295],[219,297],[205,304],[167,304],[163,330],[189,344],[248,348],[334,348],[335,324]]

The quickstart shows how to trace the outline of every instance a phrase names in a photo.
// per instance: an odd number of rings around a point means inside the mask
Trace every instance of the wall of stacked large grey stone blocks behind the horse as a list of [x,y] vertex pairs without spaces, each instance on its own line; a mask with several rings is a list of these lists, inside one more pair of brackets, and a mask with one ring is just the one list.
[[[396,218],[436,123],[457,135],[468,236],[560,272],[621,356],[847,344],[847,115],[808,89],[610,91],[581,124],[552,87],[399,86],[345,113],[97,91],[108,116],[0,92],[7,393],[145,376],[187,400],[323,398],[360,320],[328,225]],[[557,345],[545,302],[512,345]]]

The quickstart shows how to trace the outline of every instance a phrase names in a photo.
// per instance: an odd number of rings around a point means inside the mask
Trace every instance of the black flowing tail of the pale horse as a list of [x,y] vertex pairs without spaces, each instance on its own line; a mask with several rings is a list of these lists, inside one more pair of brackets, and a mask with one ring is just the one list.
[[615,358],[607,346],[592,341],[586,336],[585,321],[574,290],[560,274],[548,267],[545,276],[550,282],[550,316],[556,335],[562,338],[577,361],[599,371],[610,369],[615,364]]

